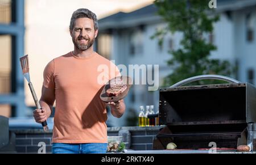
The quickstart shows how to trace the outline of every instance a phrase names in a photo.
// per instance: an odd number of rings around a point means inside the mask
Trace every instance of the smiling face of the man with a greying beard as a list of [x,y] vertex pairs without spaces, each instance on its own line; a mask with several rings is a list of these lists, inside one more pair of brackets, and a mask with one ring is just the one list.
[[98,30],[94,30],[94,23],[89,18],[78,18],[75,20],[71,31],[72,41],[77,49],[87,50],[93,45]]

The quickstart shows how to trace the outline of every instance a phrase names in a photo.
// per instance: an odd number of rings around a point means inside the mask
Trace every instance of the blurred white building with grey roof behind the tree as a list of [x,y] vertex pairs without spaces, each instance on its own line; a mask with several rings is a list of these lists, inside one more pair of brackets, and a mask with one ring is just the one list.
[[[115,64],[157,64],[159,65],[159,84],[171,70],[166,61],[170,59],[168,50],[177,49],[180,33],[167,35],[163,46],[157,39],[150,39],[156,29],[165,23],[156,15],[154,5],[133,12],[110,15],[99,20],[100,35],[97,50],[100,54],[115,60]],[[256,84],[256,0],[217,0],[220,21],[214,24],[214,32],[209,40],[217,46],[211,58],[229,60],[238,66],[236,79]],[[124,118],[139,105],[155,105],[158,109],[159,91],[148,92],[147,86],[134,85],[125,99],[127,111]],[[127,125],[127,121],[114,119],[114,125]]]

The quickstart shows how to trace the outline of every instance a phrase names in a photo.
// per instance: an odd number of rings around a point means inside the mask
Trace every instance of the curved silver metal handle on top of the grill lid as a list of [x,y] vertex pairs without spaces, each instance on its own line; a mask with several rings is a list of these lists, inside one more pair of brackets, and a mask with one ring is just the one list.
[[218,80],[222,80],[222,81],[226,81],[226,82],[230,82],[230,83],[241,83],[240,81],[237,81],[236,79],[226,77],[226,76],[223,76],[223,75],[205,74],[205,75],[197,75],[195,77],[184,79],[183,81],[175,83],[171,87],[179,87],[179,86],[182,86],[184,84],[199,81],[199,80],[202,80],[202,79],[218,79]]

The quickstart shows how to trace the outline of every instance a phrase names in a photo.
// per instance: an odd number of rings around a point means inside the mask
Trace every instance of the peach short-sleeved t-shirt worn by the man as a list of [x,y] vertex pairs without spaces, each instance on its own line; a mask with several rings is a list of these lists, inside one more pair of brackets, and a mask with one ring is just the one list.
[[107,142],[106,104],[100,93],[118,75],[118,68],[96,52],[87,58],[69,52],[48,63],[43,86],[55,90],[53,143]]

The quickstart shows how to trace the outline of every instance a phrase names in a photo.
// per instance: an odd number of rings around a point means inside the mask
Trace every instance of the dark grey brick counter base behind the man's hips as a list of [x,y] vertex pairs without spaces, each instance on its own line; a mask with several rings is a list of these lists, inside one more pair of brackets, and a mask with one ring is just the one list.
[[[152,142],[160,127],[119,127],[108,128],[108,136],[118,136],[119,130],[129,130],[131,150],[152,150]],[[51,153],[52,133],[44,133],[42,130],[12,130],[16,134],[17,153],[38,153],[41,146],[39,142],[46,143],[46,153]]]

